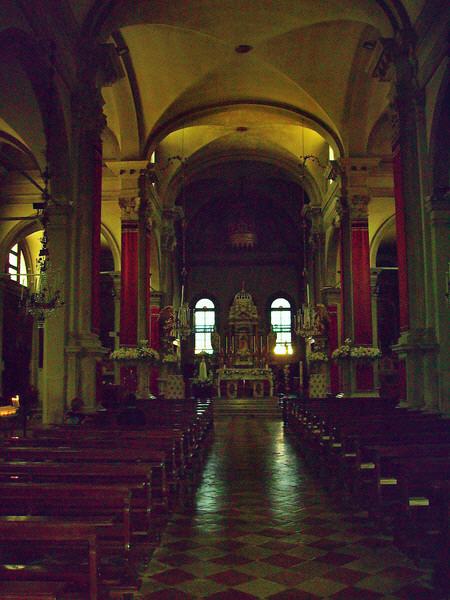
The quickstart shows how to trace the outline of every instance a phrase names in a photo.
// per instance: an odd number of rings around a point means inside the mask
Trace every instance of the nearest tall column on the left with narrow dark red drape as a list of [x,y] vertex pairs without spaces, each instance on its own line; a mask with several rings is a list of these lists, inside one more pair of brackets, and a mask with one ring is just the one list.
[[99,362],[106,353],[98,338],[101,224],[101,132],[106,124],[103,99],[83,81],[72,96],[75,165],[74,210],[70,242],[70,312],[67,403],[80,396],[86,409],[97,404]]

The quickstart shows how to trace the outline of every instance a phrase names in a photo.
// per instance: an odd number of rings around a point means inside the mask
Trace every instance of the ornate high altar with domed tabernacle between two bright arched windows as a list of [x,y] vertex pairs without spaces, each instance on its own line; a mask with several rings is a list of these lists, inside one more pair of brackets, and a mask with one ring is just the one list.
[[273,376],[267,358],[275,341],[260,330],[258,310],[244,288],[233,300],[217,371],[217,395],[264,397],[273,395]]

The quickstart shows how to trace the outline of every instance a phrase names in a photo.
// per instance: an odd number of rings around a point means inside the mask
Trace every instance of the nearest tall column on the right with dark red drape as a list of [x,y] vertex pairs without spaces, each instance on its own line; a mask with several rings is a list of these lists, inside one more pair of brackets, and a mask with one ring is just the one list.
[[424,102],[411,48],[391,43],[393,153],[401,333],[394,350],[405,363],[406,404],[431,408],[438,396],[438,344],[431,302],[431,254],[425,210]]

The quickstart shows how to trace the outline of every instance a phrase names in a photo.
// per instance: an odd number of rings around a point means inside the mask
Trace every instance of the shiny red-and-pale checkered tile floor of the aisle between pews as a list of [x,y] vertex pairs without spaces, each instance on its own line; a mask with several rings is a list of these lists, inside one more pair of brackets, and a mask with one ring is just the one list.
[[436,600],[363,516],[342,512],[279,421],[224,417],[193,507],[174,515],[143,578],[145,600]]

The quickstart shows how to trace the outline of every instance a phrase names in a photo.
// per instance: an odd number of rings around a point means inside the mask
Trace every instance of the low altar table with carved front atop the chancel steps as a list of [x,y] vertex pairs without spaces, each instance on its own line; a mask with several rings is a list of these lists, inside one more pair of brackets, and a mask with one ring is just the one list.
[[271,369],[223,368],[217,371],[219,398],[263,398],[273,396]]

